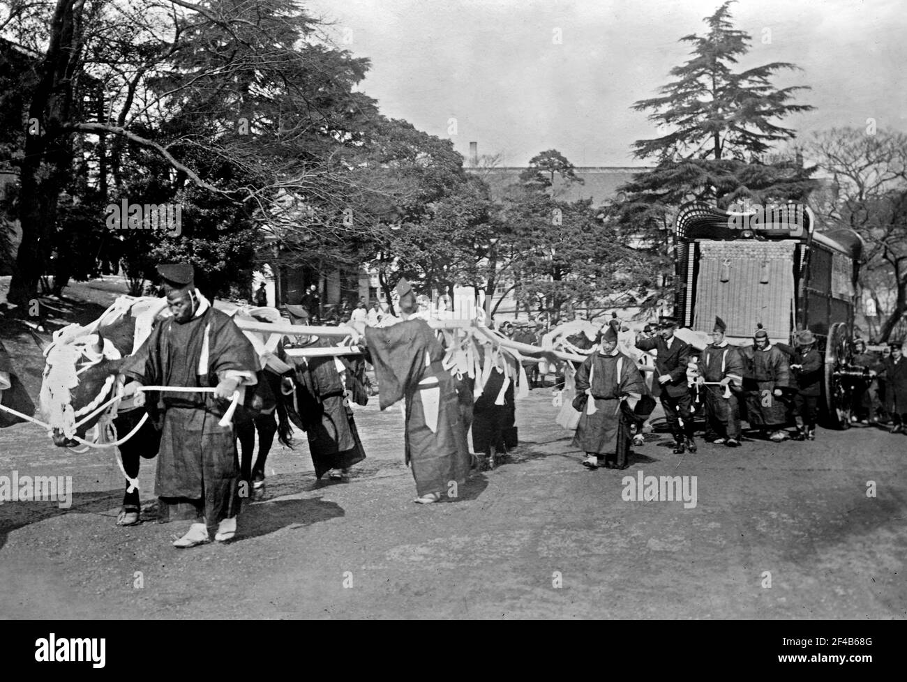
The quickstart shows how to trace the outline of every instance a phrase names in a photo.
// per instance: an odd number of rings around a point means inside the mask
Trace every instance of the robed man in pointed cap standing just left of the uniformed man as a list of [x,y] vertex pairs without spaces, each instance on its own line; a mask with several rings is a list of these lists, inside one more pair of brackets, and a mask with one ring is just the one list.
[[[584,466],[626,469],[633,427],[649,414],[636,414],[649,397],[646,382],[629,356],[618,350],[618,334],[608,325],[596,339],[599,348],[576,371],[573,408],[580,412],[573,446],[586,453]],[[651,413],[655,401],[649,398]],[[604,460],[604,463],[601,463]]]

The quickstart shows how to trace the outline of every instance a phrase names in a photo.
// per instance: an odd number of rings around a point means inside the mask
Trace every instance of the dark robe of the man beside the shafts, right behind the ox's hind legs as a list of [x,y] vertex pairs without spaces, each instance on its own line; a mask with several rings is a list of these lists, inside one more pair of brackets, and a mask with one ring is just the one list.
[[[355,368],[346,360],[340,362],[349,384]],[[336,360],[309,357],[306,364],[297,365],[296,375],[299,426],[306,431],[317,478],[331,469],[347,469],[366,459],[348,398],[344,405],[346,395],[351,398],[353,392],[347,394],[347,385],[337,371]]]

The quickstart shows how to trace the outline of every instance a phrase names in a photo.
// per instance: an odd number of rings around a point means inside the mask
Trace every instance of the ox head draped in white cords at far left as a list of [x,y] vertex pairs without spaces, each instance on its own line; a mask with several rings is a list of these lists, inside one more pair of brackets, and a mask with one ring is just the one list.
[[73,446],[101,418],[96,408],[114,395],[122,353],[96,334],[54,341],[46,351],[41,411],[51,425],[54,445]]

